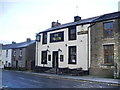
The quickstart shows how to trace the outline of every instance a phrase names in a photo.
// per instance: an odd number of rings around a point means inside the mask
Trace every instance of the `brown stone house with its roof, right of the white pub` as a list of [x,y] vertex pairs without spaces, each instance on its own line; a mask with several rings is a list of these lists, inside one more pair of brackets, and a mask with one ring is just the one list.
[[90,74],[120,75],[120,12],[104,14],[91,24]]

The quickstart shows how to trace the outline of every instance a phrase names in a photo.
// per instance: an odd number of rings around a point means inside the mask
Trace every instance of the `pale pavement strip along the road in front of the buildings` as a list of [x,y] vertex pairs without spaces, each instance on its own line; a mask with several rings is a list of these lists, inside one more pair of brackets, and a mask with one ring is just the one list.
[[110,79],[110,78],[101,78],[97,76],[70,76],[70,75],[57,75],[57,74],[47,74],[47,73],[34,73],[34,72],[26,72],[26,71],[16,71],[16,72],[22,72],[26,74],[32,74],[32,75],[40,75],[45,76],[49,78],[63,78],[63,79],[74,79],[74,80],[83,80],[83,81],[91,81],[91,82],[102,82],[102,83],[110,83],[110,84],[119,84],[120,85],[120,79]]

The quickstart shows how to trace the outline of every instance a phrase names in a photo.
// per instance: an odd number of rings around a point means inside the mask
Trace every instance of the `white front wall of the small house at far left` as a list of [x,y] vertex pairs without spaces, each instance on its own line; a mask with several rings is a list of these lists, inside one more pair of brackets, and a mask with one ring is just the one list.
[[4,61],[4,65],[6,65],[6,61],[7,61],[6,67],[8,67],[8,63],[10,63],[10,65],[11,65],[12,49],[8,49],[8,57],[6,57],[6,50],[2,50],[2,60]]

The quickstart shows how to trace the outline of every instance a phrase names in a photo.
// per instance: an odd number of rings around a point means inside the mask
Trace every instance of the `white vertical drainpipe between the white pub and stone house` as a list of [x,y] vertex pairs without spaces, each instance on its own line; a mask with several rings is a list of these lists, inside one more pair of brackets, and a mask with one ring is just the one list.
[[93,24],[91,24],[90,26],[88,26],[87,27],[87,31],[88,31],[88,36],[87,36],[87,43],[88,43],[88,45],[87,45],[87,48],[88,48],[88,55],[87,55],[87,60],[88,60],[88,63],[87,63],[87,68],[88,68],[88,72],[89,72],[89,67],[90,67],[90,56],[91,56],[91,42],[90,42],[90,40],[91,40],[91,38],[90,38],[90,27],[92,27],[92,26],[94,26],[95,25],[95,23],[93,23]]

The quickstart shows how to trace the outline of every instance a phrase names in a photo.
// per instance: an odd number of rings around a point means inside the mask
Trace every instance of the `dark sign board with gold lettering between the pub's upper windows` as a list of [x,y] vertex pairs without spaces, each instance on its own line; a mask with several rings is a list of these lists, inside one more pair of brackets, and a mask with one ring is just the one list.
[[64,41],[64,31],[50,34],[50,43]]

